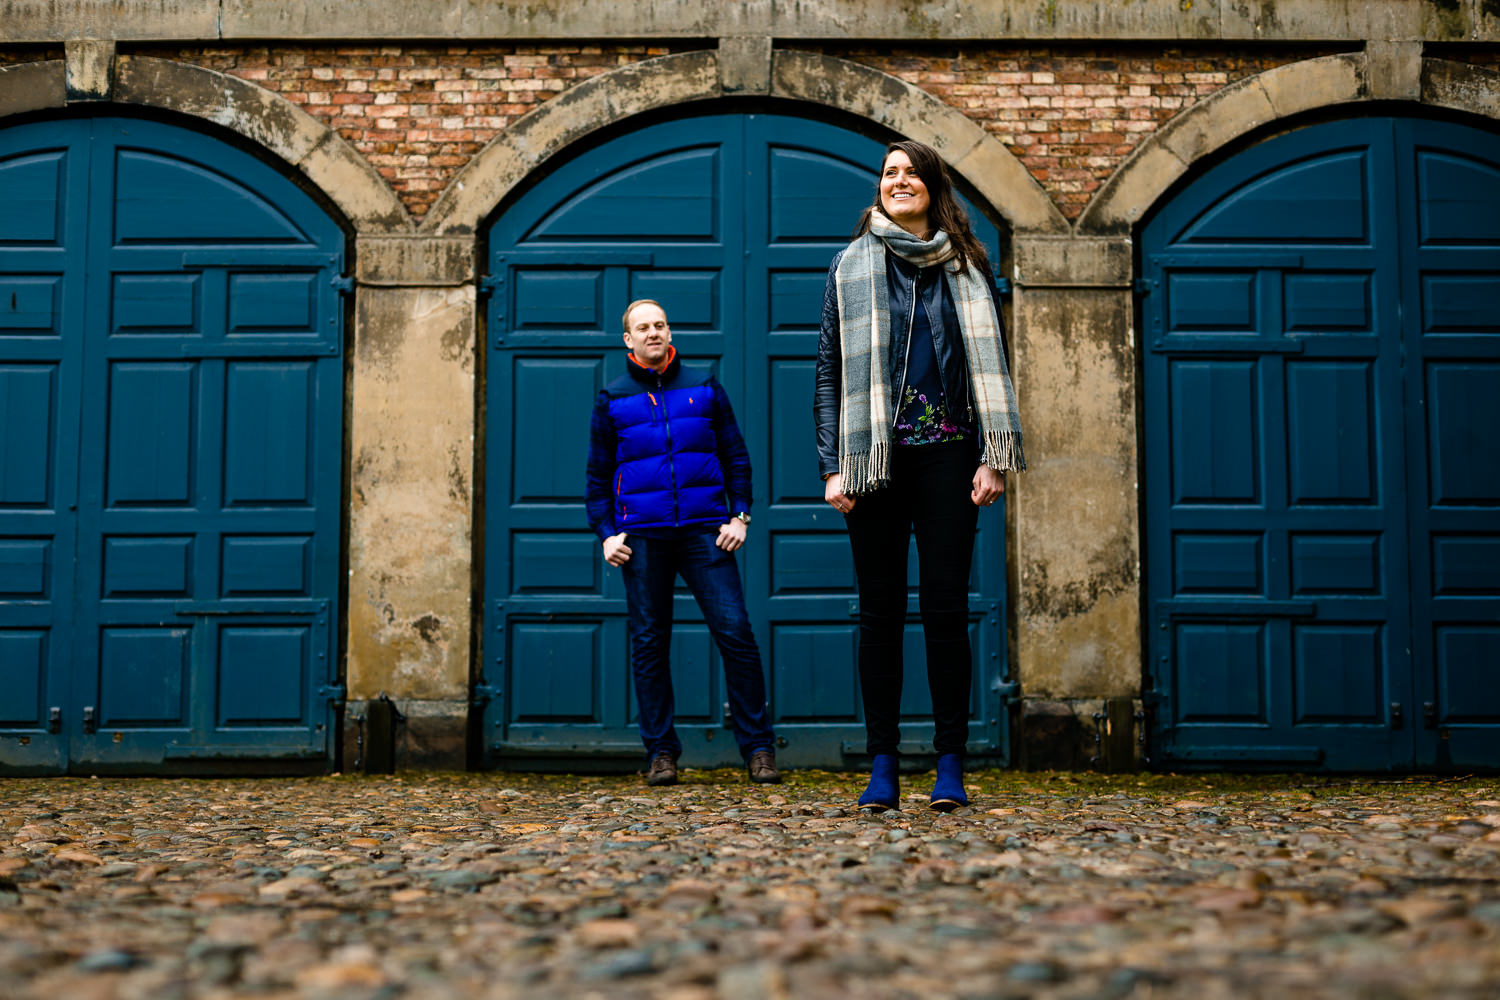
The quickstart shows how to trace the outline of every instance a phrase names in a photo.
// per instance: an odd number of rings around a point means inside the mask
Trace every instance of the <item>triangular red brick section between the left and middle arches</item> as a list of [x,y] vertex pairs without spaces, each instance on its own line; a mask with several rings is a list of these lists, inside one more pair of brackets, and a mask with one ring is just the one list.
[[422,217],[474,153],[548,97],[680,48],[381,45],[138,54],[218,69],[274,90],[369,157],[406,210]]

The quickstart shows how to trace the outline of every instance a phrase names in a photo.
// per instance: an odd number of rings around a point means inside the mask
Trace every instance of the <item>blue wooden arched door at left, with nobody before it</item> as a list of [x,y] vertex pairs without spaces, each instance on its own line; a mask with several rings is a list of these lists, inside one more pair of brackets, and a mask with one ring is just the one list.
[[327,759],[342,232],[141,120],[0,130],[0,768]]

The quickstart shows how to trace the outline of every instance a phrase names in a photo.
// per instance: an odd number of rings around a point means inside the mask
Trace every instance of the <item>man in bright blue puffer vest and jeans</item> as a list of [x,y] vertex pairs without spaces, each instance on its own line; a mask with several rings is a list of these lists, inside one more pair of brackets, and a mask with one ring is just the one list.
[[723,655],[729,721],[750,780],[776,784],[760,649],[734,556],[750,526],[750,453],[724,387],[705,369],[682,367],[662,304],[630,303],[624,327],[626,375],[594,400],[586,501],[604,562],[626,577],[646,784],[676,784],[682,753],[668,663],[680,574]]

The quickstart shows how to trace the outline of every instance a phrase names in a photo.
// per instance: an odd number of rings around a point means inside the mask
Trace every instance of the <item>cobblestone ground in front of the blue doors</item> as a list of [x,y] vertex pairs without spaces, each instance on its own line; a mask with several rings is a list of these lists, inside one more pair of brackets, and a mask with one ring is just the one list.
[[684,777],[3,781],[0,997],[1500,993],[1496,778]]

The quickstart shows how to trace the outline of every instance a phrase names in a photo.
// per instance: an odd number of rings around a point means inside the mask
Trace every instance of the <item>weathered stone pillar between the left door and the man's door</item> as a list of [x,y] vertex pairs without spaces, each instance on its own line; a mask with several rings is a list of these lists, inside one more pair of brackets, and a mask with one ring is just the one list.
[[356,244],[345,768],[363,702],[406,717],[400,768],[464,768],[474,540],[471,238]]

